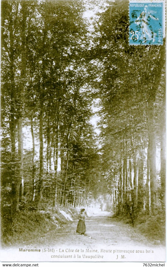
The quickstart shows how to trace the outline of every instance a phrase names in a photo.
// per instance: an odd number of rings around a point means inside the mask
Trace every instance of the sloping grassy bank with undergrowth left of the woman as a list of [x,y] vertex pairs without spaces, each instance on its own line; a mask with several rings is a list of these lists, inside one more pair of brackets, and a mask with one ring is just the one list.
[[71,223],[77,217],[78,211],[73,207],[19,211],[13,218],[6,213],[1,219],[1,245],[6,247],[26,244],[31,239],[38,239],[51,230]]

